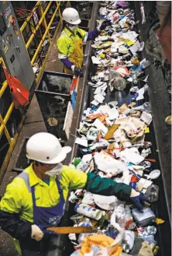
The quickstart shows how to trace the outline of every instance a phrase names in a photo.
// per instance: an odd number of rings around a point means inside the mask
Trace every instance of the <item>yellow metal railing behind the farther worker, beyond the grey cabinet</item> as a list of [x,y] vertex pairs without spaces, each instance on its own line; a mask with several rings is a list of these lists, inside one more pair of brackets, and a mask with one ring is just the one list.
[[61,12],[70,5],[70,1],[36,2],[30,15],[20,27],[31,65],[38,68],[36,82],[45,68],[48,51],[57,36],[62,22]]

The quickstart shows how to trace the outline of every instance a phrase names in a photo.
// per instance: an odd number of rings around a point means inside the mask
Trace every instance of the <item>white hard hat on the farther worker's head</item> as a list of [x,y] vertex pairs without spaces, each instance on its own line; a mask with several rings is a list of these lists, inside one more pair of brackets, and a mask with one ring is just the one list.
[[79,23],[81,23],[79,13],[76,9],[71,7],[64,9],[64,12],[62,13],[62,19],[72,25],[78,25]]

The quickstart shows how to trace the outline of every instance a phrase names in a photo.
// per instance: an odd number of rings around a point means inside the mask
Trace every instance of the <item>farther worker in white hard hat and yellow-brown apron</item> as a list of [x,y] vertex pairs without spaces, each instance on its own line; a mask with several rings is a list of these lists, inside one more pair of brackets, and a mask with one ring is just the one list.
[[62,19],[64,21],[64,30],[57,40],[58,58],[64,63],[65,73],[82,75],[84,61],[83,42],[94,40],[95,37],[98,37],[100,31],[105,30],[105,27],[110,25],[110,21],[105,20],[95,30],[86,32],[78,27],[81,19],[76,9],[64,9]]

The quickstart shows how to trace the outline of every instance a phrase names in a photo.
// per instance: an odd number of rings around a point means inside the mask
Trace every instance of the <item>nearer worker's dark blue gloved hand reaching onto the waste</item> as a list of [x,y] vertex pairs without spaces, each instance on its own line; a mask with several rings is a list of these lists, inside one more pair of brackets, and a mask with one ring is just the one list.
[[150,201],[148,200],[148,198],[146,198],[145,195],[137,192],[134,189],[132,189],[132,191],[131,191],[130,199],[131,199],[132,203],[136,206],[136,208],[139,209],[140,212],[143,211],[144,202],[150,203]]

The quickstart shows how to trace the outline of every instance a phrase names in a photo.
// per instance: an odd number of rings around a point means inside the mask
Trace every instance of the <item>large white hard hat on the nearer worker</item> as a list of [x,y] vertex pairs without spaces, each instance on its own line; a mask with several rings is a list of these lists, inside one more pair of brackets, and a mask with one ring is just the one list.
[[26,157],[40,163],[60,163],[70,151],[70,146],[62,147],[57,137],[48,132],[36,133],[26,144]]

